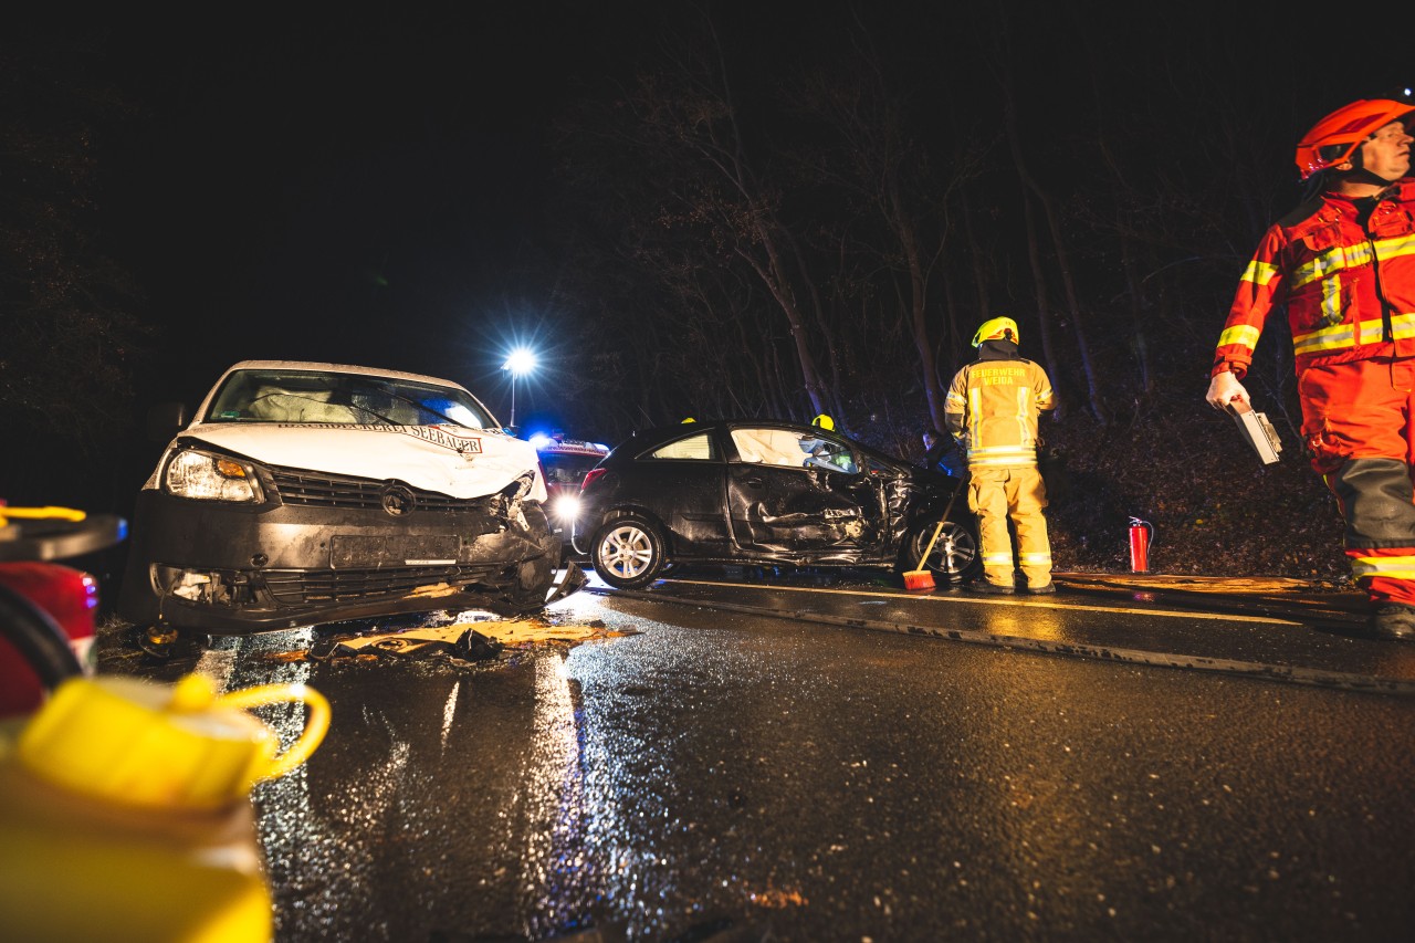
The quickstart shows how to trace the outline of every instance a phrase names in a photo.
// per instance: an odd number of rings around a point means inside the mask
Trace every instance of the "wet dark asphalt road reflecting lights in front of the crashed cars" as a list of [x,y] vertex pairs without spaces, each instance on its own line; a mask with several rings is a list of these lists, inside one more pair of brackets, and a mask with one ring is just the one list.
[[637,634],[490,663],[301,630],[100,671],[330,698],[255,794],[280,940],[1408,939],[1415,697],[1330,682],[1415,646],[1340,605],[720,581],[580,592],[555,620]]

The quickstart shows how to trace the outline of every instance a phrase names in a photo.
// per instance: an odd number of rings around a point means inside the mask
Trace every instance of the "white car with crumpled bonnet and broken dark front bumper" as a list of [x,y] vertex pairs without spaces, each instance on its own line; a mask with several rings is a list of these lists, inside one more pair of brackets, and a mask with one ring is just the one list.
[[535,446],[454,382],[243,361],[143,484],[117,613],[166,654],[183,630],[533,612],[584,585],[545,501]]

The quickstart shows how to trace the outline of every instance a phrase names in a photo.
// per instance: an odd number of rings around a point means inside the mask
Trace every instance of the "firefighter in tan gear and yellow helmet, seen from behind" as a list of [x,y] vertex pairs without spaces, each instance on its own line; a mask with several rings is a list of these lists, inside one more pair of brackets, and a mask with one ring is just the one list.
[[1051,381],[1017,353],[1017,323],[983,321],[974,334],[978,360],[954,375],[944,404],[948,432],[968,456],[968,507],[978,515],[982,593],[1012,593],[1017,561],[1007,520],[1017,531],[1026,593],[1054,593],[1047,539],[1046,486],[1037,471],[1037,415],[1051,409]]

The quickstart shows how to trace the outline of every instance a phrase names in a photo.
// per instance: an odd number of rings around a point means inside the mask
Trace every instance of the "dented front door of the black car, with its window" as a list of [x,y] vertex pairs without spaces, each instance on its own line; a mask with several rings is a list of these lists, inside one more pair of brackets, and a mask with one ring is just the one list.
[[802,562],[876,558],[889,539],[883,491],[856,450],[819,429],[734,426],[727,508],[737,544]]

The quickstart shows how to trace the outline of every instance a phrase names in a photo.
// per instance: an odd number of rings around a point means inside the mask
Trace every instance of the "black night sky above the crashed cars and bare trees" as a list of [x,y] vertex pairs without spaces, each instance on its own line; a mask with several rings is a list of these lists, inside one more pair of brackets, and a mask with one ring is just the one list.
[[[724,44],[763,64],[836,41],[856,18],[886,50],[907,42],[925,61],[966,55],[976,38],[964,4],[709,6]],[[1183,112],[1174,68],[1200,72],[1211,59],[1251,84],[1235,99],[1271,89],[1275,108],[1315,120],[1391,85],[1408,59],[1347,42],[1305,52],[1326,41],[1322,28],[1278,3],[1119,14],[1081,3],[1047,21],[1034,4],[1009,6],[1039,137],[1063,133],[1070,103],[1091,95],[1090,57],[1152,69],[1157,122]],[[286,4],[158,17],[115,4],[59,27],[37,23],[37,35],[96,41],[92,75],[137,109],[98,153],[103,238],[142,285],[139,314],[161,337],[144,395],[194,404],[236,360],[327,360],[450,377],[505,418],[507,351],[518,341],[555,350],[567,316],[545,306],[556,273],[548,122],[576,96],[613,93],[685,8]],[[1211,153],[1214,142],[1194,144]],[[1155,160],[1224,173],[1187,154]],[[1282,167],[1290,152],[1272,160]],[[522,387],[518,412],[552,406],[556,370],[573,361]]]

